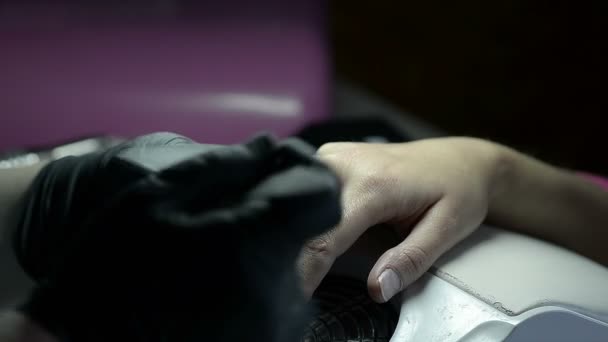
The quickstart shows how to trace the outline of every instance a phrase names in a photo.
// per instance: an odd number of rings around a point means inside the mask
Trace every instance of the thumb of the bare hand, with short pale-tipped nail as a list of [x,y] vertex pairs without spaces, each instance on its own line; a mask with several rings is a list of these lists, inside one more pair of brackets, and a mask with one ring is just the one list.
[[387,302],[404,290],[466,235],[453,212],[445,201],[438,202],[403,242],[378,259],[367,280],[376,302]]

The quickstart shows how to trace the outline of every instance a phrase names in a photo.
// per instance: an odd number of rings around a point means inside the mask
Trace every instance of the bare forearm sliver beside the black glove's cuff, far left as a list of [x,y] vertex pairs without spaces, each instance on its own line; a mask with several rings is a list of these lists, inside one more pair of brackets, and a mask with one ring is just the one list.
[[21,168],[0,169],[0,243],[17,225],[25,193],[43,166],[43,163],[37,163]]

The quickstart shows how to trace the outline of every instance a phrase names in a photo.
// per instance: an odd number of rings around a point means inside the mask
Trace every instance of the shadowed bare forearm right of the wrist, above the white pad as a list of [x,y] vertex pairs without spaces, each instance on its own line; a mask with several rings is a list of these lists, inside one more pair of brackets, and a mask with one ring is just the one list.
[[489,220],[608,265],[608,191],[572,171],[497,150]]

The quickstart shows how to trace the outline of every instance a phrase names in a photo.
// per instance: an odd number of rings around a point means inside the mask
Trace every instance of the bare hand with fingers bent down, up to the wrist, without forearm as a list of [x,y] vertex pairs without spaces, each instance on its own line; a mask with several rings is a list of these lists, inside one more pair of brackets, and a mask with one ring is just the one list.
[[496,165],[494,145],[472,138],[402,144],[331,143],[318,151],[343,182],[341,223],[310,241],[298,268],[312,294],[368,228],[386,223],[402,237],[368,278],[385,302],[420,277],[486,217]]

